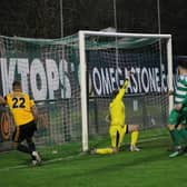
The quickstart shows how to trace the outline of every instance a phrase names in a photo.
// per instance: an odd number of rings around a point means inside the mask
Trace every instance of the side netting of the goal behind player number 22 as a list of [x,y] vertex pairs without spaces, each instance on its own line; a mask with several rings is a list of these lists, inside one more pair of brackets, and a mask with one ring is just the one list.
[[[56,40],[0,37],[1,95],[12,90],[16,79],[36,100],[38,145],[81,142],[77,36]],[[9,141],[13,120],[8,108],[1,111],[8,114],[8,122],[2,125],[0,140]]]

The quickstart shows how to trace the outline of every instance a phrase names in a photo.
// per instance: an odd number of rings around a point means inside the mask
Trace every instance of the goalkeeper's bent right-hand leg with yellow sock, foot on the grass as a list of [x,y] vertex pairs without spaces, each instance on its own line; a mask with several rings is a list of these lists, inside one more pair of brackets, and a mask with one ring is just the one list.
[[131,140],[130,140],[130,151],[139,151],[140,149],[137,147],[138,141],[138,125],[128,125],[128,132],[130,132]]

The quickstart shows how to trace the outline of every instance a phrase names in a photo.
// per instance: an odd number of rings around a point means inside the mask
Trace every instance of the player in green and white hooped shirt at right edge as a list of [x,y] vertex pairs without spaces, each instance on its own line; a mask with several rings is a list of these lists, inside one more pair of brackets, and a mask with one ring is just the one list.
[[187,130],[184,128],[187,119],[187,59],[178,59],[179,78],[174,91],[174,109],[169,114],[168,129],[174,140],[176,150],[169,157],[176,157],[181,152],[180,140],[187,145]]

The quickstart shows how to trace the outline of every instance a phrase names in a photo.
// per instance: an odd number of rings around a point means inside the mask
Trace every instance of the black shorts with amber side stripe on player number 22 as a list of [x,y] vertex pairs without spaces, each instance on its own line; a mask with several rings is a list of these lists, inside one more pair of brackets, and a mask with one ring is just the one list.
[[36,130],[37,124],[35,121],[30,121],[22,126],[16,126],[12,140],[14,142],[21,142],[24,139],[32,138]]

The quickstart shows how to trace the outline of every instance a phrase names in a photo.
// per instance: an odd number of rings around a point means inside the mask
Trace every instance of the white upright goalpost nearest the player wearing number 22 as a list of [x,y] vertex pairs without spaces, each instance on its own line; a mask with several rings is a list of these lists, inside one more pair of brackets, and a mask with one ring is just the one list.
[[85,35],[79,31],[79,58],[80,58],[80,96],[81,96],[81,130],[82,130],[82,150],[88,150],[88,110],[87,110],[87,67]]

